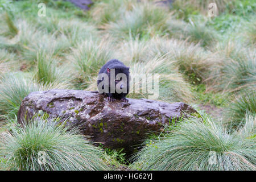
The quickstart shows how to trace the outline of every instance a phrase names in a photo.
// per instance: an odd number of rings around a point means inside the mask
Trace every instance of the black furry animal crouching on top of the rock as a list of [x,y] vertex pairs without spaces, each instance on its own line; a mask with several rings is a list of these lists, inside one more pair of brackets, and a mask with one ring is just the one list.
[[[105,73],[108,80],[104,80],[104,78],[100,76],[101,73]],[[123,73],[121,75],[125,76],[126,78],[120,77],[118,73]],[[115,99],[128,102],[125,96],[129,93],[129,67],[126,67],[125,64],[117,59],[112,59],[103,65],[98,73],[98,76],[97,85],[99,93],[103,92],[102,94],[106,94],[110,102],[113,102]],[[102,83],[102,81],[104,82]],[[106,89],[105,86],[108,86],[108,89]],[[114,89],[114,93],[111,93],[111,87]],[[117,88],[122,89],[122,92],[118,92]],[[102,89],[105,90],[103,91]],[[102,92],[100,92],[100,90],[102,90]]]

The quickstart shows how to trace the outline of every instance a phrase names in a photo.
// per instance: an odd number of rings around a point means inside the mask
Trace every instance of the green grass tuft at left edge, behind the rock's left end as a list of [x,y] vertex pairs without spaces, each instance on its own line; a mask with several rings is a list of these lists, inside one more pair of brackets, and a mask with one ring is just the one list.
[[35,91],[59,88],[58,84],[38,84],[29,73],[9,73],[0,78],[0,114],[14,118],[24,97]]

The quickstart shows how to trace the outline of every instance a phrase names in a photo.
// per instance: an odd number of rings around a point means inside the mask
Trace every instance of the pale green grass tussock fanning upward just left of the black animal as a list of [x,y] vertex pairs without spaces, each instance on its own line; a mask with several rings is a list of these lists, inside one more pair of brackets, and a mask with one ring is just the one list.
[[72,54],[68,59],[75,64],[75,68],[79,72],[78,77],[85,84],[97,75],[106,61],[113,59],[110,48],[113,48],[113,44],[105,39],[100,41],[90,39],[72,49]]

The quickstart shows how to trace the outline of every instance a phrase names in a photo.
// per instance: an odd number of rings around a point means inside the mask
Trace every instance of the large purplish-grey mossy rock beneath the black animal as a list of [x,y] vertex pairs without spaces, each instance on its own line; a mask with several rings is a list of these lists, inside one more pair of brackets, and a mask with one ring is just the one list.
[[23,124],[35,113],[43,112],[50,118],[69,117],[69,124],[79,125],[81,132],[91,136],[93,141],[132,152],[148,133],[160,132],[162,124],[169,125],[170,119],[196,112],[183,102],[128,100],[129,103],[110,103],[102,94],[83,90],[32,92],[22,101],[18,122]]

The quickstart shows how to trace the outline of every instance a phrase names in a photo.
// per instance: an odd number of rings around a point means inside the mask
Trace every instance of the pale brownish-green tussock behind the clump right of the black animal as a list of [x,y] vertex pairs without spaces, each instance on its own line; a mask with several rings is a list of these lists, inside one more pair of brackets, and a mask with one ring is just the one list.
[[218,65],[220,59],[212,52],[207,52],[199,44],[175,39],[152,39],[151,55],[164,55],[175,60],[179,71],[187,75],[192,84],[206,81],[210,72]]

